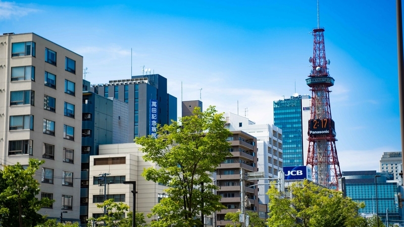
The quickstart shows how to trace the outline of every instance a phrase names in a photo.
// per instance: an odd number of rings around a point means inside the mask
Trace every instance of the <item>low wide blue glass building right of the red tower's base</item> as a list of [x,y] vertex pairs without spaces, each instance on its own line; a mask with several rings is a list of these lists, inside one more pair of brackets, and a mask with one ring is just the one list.
[[[375,178],[375,176],[380,176]],[[377,181],[377,195],[376,182]],[[345,171],[342,172],[340,185],[345,196],[357,202],[364,202],[365,208],[359,209],[362,216],[373,216],[376,212],[383,222],[388,215],[389,223],[400,223],[401,212],[394,201],[399,192],[399,185],[388,173],[376,173],[376,171]]]

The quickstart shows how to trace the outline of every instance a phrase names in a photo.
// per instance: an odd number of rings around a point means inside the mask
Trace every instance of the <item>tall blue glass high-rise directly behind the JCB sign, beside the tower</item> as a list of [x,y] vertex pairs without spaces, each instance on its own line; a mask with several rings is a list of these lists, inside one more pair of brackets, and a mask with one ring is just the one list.
[[274,125],[283,133],[283,166],[304,165],[310,100],[309,95],[295,93],[288,99],[274,101]]

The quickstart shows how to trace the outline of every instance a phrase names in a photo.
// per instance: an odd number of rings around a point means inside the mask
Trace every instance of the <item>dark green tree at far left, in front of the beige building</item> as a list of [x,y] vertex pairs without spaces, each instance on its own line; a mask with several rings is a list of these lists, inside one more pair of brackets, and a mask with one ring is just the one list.
[[54,201],[39,200],[39,183],[33,176],[44,161],[29,159],[26,169],[20,163],[5,166],[0,171],[0,222],[3,226],[35,226],[45,222],[37,211],[50,206]]

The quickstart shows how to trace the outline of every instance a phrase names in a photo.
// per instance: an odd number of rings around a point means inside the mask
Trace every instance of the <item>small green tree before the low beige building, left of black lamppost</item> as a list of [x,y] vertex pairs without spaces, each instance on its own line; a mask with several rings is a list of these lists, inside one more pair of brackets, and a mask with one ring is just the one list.
[[121,223],[125,223],[125,211],[129,210],[129,206],[125,203],[114,202],[114,199],[105,200],[103,203],[97,204],[98,208],[106,210],[106,215],[98,218],[88,218],[87,226],[92,226],[92,222],[105,222],[107,227],[121,226]]

